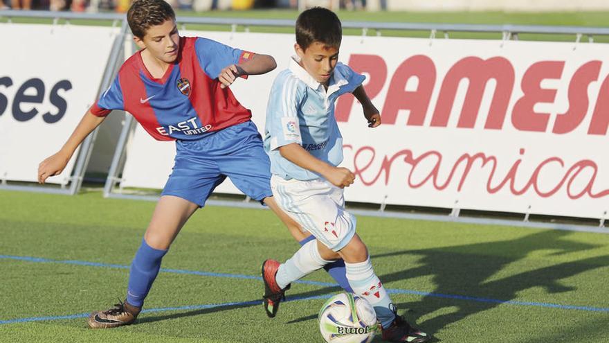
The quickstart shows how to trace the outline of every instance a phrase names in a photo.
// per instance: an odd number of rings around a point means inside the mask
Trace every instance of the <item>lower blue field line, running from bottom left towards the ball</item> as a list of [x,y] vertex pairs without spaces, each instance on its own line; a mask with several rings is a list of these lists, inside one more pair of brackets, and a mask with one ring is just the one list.
[[[327,299],[334,294],[317,295],[313,297],[291,297],[286,301],[305,301],[313,299]],[[206,310],[208,308],[223,308],[230,306],[254,306],[262,304],[262,300],[256,301],[242,301],[242,302],[230,302],[224,304],[206,304],[206,305],[190,305],[190,306],[176,306],[176,307],[161,307],[161,308],[147,308],[142,310],[142,313],[157,313],[157,312],[170,312],[170,311],[183,311],[183,310]],[[31,317],[31,318],[19,318],[0,320],[0,325],[3,324],[18,324],[27,322],[48,322],[53,320],[64,320],[64,319],[78,319],[87,318],[89,313],[80,313],[80,315],[60,315],[60,316],[48,316],[48,317]]]

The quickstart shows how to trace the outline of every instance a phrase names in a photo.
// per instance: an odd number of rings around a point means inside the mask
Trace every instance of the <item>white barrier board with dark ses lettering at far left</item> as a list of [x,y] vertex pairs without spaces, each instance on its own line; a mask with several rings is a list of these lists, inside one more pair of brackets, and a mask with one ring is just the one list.
[[[37,180],[96,99],[119,30],[0,24],[0,179]],[[48,182],[67,184],[74,163]]]

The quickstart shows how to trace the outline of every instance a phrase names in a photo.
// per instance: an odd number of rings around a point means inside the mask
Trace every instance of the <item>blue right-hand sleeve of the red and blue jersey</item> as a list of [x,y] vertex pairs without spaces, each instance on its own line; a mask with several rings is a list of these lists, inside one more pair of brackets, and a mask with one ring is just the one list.
[[194,49],[201,69],[212,79],[220,75],[230,64],[239,64],[253,58],[255,53],[235,49],[212,39],[198,37]]

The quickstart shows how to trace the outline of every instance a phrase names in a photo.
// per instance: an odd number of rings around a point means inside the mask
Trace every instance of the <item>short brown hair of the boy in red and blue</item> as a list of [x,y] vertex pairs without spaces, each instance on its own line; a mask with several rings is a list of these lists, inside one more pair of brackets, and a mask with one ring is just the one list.
[[131,33],[143,39],[146,31],[161,25],[168,19],[176,19],[176,13],[165,0],[136,0],[127,12],[127,22]]

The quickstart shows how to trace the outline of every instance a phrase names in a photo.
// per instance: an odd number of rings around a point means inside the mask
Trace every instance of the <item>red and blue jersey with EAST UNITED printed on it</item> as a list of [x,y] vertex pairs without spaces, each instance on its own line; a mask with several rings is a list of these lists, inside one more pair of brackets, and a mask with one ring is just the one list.
[[208,132],[250,120],[251,111],[230,88],[222,89],[217,77],[225,67],[253,55],[211,39],[181,37],[177,63],[157,79],[138,51],[122,64],[91,113],[107,116],[112,109],[124,109],[159,141],[201,139]]

